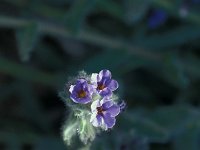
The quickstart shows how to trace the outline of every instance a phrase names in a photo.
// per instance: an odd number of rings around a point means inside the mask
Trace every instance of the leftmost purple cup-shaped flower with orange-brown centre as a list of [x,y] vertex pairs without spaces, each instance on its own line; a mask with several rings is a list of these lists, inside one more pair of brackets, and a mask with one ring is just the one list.
[[69,92],[70,98],[75,103],[87,104],[92,100],[93,87],[85,79],[78,79],[76,85],[71,85]]

